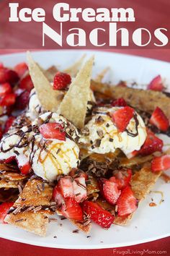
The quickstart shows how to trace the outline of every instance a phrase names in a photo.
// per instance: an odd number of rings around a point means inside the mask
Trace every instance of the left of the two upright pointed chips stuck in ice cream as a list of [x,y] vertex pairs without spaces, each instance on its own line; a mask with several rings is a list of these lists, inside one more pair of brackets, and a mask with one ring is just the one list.
[[53,90],[45,74],[43,74],[40,67],[32,59],[30,52],[27,52],[27,61],[37,98],[42,108],[46,111],[57,111],[63,93],[58,90]]

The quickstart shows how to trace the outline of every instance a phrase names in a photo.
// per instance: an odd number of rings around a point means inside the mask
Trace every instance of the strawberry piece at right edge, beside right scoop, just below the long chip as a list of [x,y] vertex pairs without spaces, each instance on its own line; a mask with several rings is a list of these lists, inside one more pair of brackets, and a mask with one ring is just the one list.
[[169,129],[169,119],[167,119],[161,108],[156,107],[151,115],[150,123],[155,125],[158,129],[166,132]]

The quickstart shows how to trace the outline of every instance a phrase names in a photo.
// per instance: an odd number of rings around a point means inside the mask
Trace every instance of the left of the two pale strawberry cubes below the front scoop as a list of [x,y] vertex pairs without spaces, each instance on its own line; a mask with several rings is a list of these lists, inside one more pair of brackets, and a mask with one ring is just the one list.
[[58,182],[58,186],[61,188],[61,195],[64,198],[74,197],[73,179],[71,179],[71,177],[61,177]]

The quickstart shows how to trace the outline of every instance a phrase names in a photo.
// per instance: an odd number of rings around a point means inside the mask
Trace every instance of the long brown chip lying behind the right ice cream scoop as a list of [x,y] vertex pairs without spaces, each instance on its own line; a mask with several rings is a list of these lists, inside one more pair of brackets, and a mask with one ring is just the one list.
[[91,80],[91,88],[99,93],[104,93],[109,98],[124,98],[125,101],[134,108],[153,113],[158,106],[166,116],[170,118],[170,98],[164,93],[154,90],[134,89],[122,86],[111,86],[101,82]]

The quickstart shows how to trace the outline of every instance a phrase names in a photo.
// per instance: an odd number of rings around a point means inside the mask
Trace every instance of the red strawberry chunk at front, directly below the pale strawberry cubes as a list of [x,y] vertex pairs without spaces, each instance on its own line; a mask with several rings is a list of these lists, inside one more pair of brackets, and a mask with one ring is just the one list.
[[83,220],[83,211],[81,206],[74,198],[66,198],[65,204],[61,206],[61,213],[66,218],[73,218],[76,221]]

